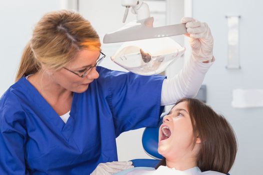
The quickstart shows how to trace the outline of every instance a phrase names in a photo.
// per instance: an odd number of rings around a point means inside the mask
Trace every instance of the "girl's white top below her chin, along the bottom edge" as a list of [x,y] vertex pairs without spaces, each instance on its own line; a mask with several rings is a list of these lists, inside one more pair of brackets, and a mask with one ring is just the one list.
[[199,167],[195,166],[186,170],[176,170],[175,168],[169,168],[167,166],[159,166],[157,169],[135,169],[127,173],[127,175],[225,175],[224,173],[217,171],[204,171],[201,172]]

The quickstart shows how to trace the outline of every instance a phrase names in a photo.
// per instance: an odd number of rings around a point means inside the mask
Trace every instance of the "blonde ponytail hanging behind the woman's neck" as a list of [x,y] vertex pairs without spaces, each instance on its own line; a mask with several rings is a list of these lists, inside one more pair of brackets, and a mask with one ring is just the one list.
[[41,68],[41,64],[35,58],[30,44],[31,41],[29,41],[24,48],[15,81],[18,81],[22,76],[36,73]]

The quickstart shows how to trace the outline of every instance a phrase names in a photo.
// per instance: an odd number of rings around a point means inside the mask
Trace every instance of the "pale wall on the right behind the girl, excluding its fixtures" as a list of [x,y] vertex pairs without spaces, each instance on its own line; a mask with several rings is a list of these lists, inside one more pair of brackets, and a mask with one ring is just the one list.
[[[208,71],[207,103],[226,116],[238,139],[238,153],[231,175],[263,174],[263,108],[233,108],[232,89],[263,88],[262,0],[193,0],[193,17],[205,21],[214,36],[216,62]],[[227,20],[241,15],[241,69],[226,69]]]

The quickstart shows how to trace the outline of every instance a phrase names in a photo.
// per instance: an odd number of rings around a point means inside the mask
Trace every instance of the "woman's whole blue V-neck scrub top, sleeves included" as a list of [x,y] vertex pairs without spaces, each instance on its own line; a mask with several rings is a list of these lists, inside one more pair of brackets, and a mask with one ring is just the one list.
[[98,79],[74,93],[61,117],[25,78],[0,99],[0,174],[90,174],[117,160],[122,132],[157,126],[164,76],[97,67]]

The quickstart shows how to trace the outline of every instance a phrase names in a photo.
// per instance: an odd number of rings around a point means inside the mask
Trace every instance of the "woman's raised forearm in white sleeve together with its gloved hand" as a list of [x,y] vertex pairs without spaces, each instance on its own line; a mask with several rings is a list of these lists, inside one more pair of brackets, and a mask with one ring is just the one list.
[[183,97],[194,97],[214,62],[213,37],[208,25],[191,17],[183,17],[181,22],[187,28],[185,35],[190,37],[192,53],[177,75],[163,81],[161,105],[173,104]]

